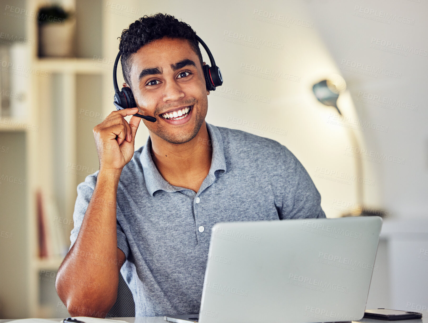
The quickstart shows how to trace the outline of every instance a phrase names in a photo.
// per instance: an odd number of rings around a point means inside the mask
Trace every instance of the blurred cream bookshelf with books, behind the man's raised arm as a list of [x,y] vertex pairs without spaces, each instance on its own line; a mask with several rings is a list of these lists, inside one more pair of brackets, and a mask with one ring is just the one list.
[[[21,5],[38,12],[47,3],[57,2]],[[56,294],[56,272],[70,246],[77,185],[98,170],[92,129],[113,97],[103,89],[113,68],[102,59],[103,27],[112,19],[104,14],[105,1],[62,4],[75,12],[76,57],[39,57],[38,26],[31,20],[16,24],[25,25],[34,46],[12,43],[8,53],[1,47],[3,60],[9,55],[12,63],[30,69],[0,76],[0,91],[2,85],[9,89],[0,115],[0,231],[8,234],[0,244],[0,258],[6,260],[0,319],[69,316]]]

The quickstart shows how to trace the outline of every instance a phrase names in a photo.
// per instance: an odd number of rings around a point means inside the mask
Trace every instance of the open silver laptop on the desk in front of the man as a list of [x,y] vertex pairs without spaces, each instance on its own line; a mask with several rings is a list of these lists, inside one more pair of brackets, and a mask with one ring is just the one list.
[[176,323],[309,323],[363,318],[382,218],[220,222],[199,314]]

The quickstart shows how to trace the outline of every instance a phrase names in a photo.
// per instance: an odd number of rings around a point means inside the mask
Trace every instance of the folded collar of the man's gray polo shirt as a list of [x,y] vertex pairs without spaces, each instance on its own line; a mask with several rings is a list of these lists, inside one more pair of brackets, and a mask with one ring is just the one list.
[[[213,126],[206,121],[205,124],[207,126],[208,134],[211,137],[211,144],[213,147],[211,167],[208,172],[208,176],[210,177],[210,180],[214,182],[216,170],[223,170],[223,173],[226,172],[226,159],[224,157],[223,138],[221,136],[220,130],[216,126]],[[171,185],[169,184],[169,182],[166,182],[166,180],[163,179],[162,175],[160,175],[159,173],[158,168],[153,162],[152,155],[150,153],[151,148],[152,140],[149,136],[140,155],[140,161],[143,165],[144,179],[149,194],[153,196],[155,191],[158,190],[163,190],[166,192],[176,192],[183,190],[183,188]]]

